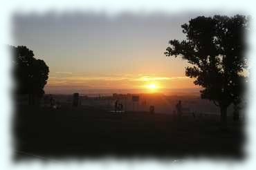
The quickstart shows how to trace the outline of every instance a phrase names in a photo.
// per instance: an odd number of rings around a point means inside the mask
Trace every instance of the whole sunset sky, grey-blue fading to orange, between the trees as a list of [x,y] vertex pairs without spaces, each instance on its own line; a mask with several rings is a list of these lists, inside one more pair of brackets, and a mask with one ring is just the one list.
[[170,39],[185,39],[181,25],[196,16],[123,13],[108,17],[89,12],[15,15],[14,45],[27,46],[49,66],[46,93],[199,88],[185,77],[187,62],[164,55]]

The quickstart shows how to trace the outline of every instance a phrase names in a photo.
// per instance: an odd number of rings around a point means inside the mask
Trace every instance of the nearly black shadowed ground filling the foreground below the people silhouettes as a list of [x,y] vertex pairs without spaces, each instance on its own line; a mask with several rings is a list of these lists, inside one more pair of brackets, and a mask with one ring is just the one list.
[[150,113],[109,113],[95,108],[18,108],[15,158],[102,158],[131,156],[243,158],[241,122]]

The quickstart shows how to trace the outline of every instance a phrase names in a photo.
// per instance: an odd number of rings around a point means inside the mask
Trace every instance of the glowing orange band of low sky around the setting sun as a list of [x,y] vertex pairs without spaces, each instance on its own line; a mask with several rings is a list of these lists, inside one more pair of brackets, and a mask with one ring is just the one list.
[[156,77],[149,75],[109,75],[104,77],[75,76],[72,73],[57,73],[49,77],[46,91],[53,88],[81,89],[141,89],[142,93],[153,92],[150,85],[154,84],[154,92],[165,92],[165,88],[198,88],[189,77]]

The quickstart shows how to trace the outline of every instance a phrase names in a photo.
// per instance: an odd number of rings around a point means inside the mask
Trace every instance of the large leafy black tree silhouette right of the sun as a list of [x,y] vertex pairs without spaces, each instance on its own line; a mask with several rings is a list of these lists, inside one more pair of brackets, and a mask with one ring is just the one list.
[[226,125],[228,106],[239,104],[244,93],[248,19],[242,15],[196,17],[181,28],[186,39],[170,40],[165,55],[188,61],[185,75],[203,87],[201,98],[219,106],[221,122]]

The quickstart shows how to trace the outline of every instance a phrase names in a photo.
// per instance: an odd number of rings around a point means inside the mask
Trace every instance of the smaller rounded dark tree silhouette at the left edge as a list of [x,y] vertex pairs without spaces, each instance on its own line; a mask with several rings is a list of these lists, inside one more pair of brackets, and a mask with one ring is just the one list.
[[26,46],[11,46],[14,63],[15,93],[28,94],[29,104],[44,95],[49,68],[42,59],[35,59],[33,50]]

